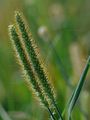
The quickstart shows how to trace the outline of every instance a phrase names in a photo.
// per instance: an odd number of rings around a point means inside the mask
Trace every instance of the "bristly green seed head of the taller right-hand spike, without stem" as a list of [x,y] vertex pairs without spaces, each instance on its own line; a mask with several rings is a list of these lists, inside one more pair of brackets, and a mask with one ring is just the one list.
[[50,95],[49,97],[54,99],[54,95],[52,92],[53,90],[52,88],[50,88],[50,85],[47,81],[47,75],[44,73],[44,70],[39,62],[38,55],[36,54],[36,51],[34,49],[35,44],[33,44],[32,36],[30,35],[30,33],[27,32],[28,28],[26,28],[27,26],[25,25],[25,22],[18,11],[15,12],[15,20],[19,31],[21,32],[22,40],[25,43],[25,47],[30,56],[34,69],[40,78],[40,82],[42,82],[44,88],[46,88],[47,94]]

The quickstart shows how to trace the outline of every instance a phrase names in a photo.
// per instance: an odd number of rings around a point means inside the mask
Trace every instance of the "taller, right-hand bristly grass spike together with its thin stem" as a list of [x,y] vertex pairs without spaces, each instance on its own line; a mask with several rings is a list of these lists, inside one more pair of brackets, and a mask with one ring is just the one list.
[[23,44],[25,44],[27,53],[31,59],[34,70],[38,75],[39,82],[41,83],[50,101],[52,101],[52,104],[55,106],[57,113],[62,120],[63,118],[61,116],[61,111],[56,107],[56,99],[55,99],[53,88],[48,81],[48,77],[44,71],[42,64],[39,61],[38,54],[36,53],[35,44],[33,42],[32,35],[31,33],[30,34],[28,33],[27,26],[19,12],[15,12],[15,20],[16,20],[18,30],[21,33],[22,42]]

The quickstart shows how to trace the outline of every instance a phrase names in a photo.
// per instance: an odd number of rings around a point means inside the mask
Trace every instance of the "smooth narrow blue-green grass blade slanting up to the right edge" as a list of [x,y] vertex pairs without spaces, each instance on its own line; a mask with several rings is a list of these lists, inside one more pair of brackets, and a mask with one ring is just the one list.
[[80,92],[82,90],[82,87],[83,87],[83,84],[85,82],[85,78],[86,78],[86,75],[88,73],[89,67],[90,67],[90,56],[88,57],[86,66],[85,66],[85,68],[83,70],[83,73],[82,73],[82,75],[80,77],[80,80],[79,80],[79,82],[77,84],[77,87],[74,90],[74,92],[73,92],[73,94],[72,94],[72,96],[70,98],[70,101],[69,101],[69,104],[68,104],[68,120],[71,120],[71,113],[72,113],[72,111],[74,109],[74,106],[75,106],[75,104],[76,104],[76,102],[78,100],[78,97],[80,95]]

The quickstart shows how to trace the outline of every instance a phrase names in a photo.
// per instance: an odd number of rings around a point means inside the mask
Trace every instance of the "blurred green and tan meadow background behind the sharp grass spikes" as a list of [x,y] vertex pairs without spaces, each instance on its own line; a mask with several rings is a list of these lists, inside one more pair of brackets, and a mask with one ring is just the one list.
[[[14,57],[8,25],[15,10],[30,26],[63,111],[90,55],[90,0],[0,0],[0,120],[48,120]],[[73,118],[90,119],[90,72]]]

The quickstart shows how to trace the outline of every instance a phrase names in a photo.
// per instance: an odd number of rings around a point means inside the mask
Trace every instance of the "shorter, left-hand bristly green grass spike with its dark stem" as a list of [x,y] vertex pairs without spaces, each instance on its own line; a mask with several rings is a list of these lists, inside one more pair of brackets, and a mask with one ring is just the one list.
[[34,75],[33,70],[31,68],[30,61],[28,60],[27,55],[25,53],[25,50],[24,50],[22,44],[20,43],[20,39],[19,39],[19,36],[16,32],[14,25],[9,26],[9,33],[10,33],[11,41],[12,41],[12,44],[14,46],[15,52],[16,52],[17,57],[19,59],[19,62],[21,64],[22,68],[24,69],[24,73],[27,74],[27,76],[30,80],[30,83],[32,84],[33,90],[35,91],[35,93],[39,97],[39,99],[41,100],[41,103],[43,103],[44,107],[48,109],[53,120],[56,120],[54,115],[51,114],[52,112],[49,108],[50,107],[49,101],[45,97],[45,95],[43,94],[43,91],[42,91],[40,85],[38,84],[38,82],[35,78],[35,75]]

